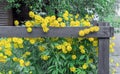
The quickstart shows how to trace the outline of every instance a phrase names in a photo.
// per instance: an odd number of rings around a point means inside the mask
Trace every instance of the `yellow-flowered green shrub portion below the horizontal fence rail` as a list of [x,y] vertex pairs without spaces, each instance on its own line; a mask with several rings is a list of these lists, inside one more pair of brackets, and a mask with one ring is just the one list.
[[95,38],[3,38],[0,72],[97,74]]

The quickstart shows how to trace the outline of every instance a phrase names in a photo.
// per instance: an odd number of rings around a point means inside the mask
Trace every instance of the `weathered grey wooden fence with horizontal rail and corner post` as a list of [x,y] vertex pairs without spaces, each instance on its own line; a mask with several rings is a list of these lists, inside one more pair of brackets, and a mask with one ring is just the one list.
[[[85,37],[96,37],[99,40],[98,74],[109,74],[109,38],[114,35],[114,28],[109,23],[95,23],[100,26],[100,31],[90,33]],[[86,27],[51,27],[48,33],[42,28],[34,27],[33,32],[28,33],[25,27],[0,26],[0,37],[79,37],[78,32]]]

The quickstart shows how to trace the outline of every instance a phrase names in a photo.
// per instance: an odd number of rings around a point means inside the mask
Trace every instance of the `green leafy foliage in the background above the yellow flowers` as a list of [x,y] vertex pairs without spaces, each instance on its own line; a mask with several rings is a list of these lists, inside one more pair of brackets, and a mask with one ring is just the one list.
[[[3,1],[3,0],[1,0]],[[19,9],[22,5],[36,12],[44,12],[47,15],[60,15],[68,10],[72,14],[79,13],[81,16],[97,13],[103,17],[114,13],[116,0],[6,0],[7,8]]]

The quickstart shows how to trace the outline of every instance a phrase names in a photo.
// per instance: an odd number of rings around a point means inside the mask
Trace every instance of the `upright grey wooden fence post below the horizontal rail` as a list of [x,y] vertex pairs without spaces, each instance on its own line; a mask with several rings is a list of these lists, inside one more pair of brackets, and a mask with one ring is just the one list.
[[99,38],[98,74],[109,74],[109,38]]

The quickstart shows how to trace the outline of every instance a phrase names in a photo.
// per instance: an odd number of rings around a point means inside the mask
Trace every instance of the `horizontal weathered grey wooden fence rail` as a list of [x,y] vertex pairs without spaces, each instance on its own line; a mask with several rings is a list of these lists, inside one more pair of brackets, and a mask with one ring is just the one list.
[[[65,28],[53,28],[51,27],[49,32],[44,33],[42,28],[34,27],[32,33],[27,33],[25,27],[15,26],[0,26],[0,37],[79,37],[79,30],[84,27],[65,27]],[[99,32],[90,33],[85,37],[110,37],[112,27],[100,27]]]

